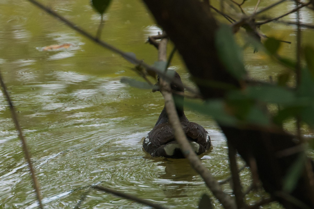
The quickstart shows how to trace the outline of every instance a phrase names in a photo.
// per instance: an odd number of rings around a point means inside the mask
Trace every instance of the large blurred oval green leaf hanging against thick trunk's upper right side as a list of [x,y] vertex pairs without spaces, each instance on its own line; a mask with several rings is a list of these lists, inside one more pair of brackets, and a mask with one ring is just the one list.
[[229,73],[238,80],[246,75],[243,64],[243,51],[234,39],[231,28],[222,24],[215,36],[215,45],[220,61],[224,63]]

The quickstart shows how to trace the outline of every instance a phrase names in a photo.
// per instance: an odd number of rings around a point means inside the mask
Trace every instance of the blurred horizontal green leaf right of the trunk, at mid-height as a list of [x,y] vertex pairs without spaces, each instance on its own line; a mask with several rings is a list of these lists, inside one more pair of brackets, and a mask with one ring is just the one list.
[[249,97],[262,102],[291,104],[295,102],[295,94],[280,86],[249,86],[246,88]]

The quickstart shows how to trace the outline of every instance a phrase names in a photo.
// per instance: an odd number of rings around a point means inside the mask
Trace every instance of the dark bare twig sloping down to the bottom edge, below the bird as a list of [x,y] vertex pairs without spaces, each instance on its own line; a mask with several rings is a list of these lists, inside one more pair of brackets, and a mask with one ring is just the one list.
[[163,207],[163,206],[161,206],[159,204],[152,203],[150,201],[138,198],[136,196],[129,195],[129,194],[126,194],[126,193],[123,193],[123,192],[119,192],[119,191],[115,191],[115,190],[112,190],[112,189],[109,189],[109,188],[106,188],[106,187],[103,187],[103,186],[100,186],[100,185],[92,186],[92,188],[97,189],[99,191],[109,192],[109,193],[115,194],[117,196],[126,198],[128,200],[133,200],[133,201],[136,201],[136,202],[141,203],[143,205],[151,206],[151,207],[156,208],[156,209],[166,209],[165,207]]

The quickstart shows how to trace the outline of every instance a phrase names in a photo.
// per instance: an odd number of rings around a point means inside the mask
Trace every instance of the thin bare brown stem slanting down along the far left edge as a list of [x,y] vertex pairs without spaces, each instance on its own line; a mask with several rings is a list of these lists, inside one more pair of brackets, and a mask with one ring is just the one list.
[[7,98],[7,101],[8,101],[10,110],[11,110],[12,119],[13,119],[14,124],[15,124],[15,128],[19,132],[19,138],[21,139],[21,142],[22,142],[22,147],[23,147],[25,159],[27,160],[28,166],[30,168],[30,173],[31,173],[31,177],[32,177],[32,180],[33,180],[33,185],[34,185],[34,189],[35,189],[35,192],[36,192],[36,196],[37,196],[39,207],[41,209],[43,209],[42,202],[41,202],[41,192],[40,192],[39,184],[38,184],[38,181],[37,181],[37,178],[36,178],[36,175],[35,175],[35,170],[33,168],[33,164],[32,164],[32,161],[30,159],[30,153],[28,152],[28,149],[27,149],[26,140],[24,138],[24,134],[22,132],[22,129],[21,129],[20,125],[19,125],[18,116],[16,114],[15,108],[14,108],[13,103],[12,103],[12,101],[10,99],[9,94],[8,94],[7,87],[5,86],[5,84],[3,82],[1,73],[0,73],[0,84],[2,86],[2,90],[3,90],[4,96]]

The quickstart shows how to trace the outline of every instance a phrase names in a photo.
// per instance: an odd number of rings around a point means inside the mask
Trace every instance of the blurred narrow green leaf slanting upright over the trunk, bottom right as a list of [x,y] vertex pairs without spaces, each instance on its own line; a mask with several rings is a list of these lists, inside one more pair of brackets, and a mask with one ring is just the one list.
[[290,193],[295,188],[305,166],[306,156],[301,153],[297,159],[290,165],[287,174],[284,176],[283,191]]

